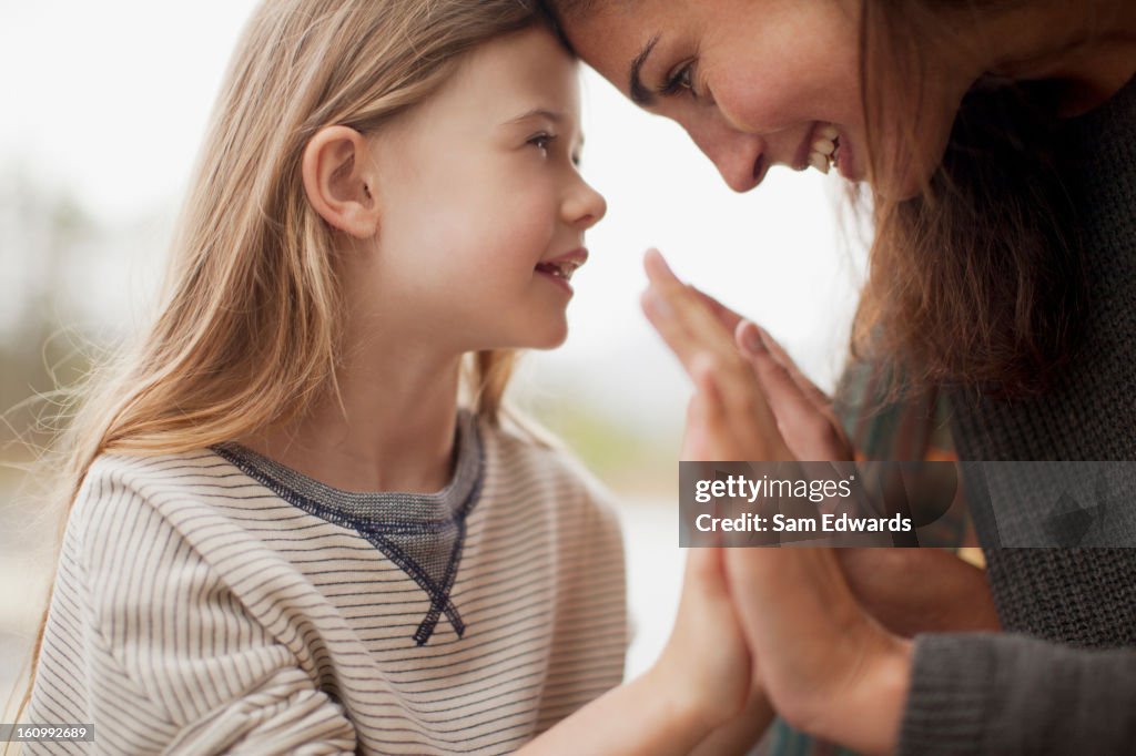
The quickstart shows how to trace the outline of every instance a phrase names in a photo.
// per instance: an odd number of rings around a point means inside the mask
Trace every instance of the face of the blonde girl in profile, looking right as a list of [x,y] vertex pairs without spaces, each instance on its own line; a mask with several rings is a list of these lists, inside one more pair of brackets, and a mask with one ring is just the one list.
[[550,347],[603,198],[577,170],[576,64],[544,28],[492,41],[371,138],[379,322],[458,351]]

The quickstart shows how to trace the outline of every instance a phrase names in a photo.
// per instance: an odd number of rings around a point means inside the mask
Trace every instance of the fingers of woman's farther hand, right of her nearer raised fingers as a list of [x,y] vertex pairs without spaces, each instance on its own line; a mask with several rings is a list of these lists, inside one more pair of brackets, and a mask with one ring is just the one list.
[[[853,459],[851,444],[827,408],[827,397],[796,368],[784,350],[767,339],[753,322],[743,320],[735,334],[749,356],[772,408],[785,444],[799,460],[844,461]],[[783,359],[778,359],[778,354]]]

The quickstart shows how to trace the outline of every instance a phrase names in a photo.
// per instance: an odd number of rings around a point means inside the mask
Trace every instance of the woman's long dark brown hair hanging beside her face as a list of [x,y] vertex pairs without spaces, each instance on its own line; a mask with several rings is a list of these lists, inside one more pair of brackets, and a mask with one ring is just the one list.
[[[610,1],[545,0],[545,7],[570,18]],[[1084,276],[1077,240],[1067,235],[1070,208],[1054,149],[1059,121],[1045,83],[978,81],[919,194],[897,201],[872,188],[894,182],[910,160],[928,56],[962,49],[945,30],[1026,3],[861,1],[861,103],[872,182],[853,196],[870,207],[874,238],[852,353],[892,377],[885,398],[943,385],[1035,393],[1076,341]]]

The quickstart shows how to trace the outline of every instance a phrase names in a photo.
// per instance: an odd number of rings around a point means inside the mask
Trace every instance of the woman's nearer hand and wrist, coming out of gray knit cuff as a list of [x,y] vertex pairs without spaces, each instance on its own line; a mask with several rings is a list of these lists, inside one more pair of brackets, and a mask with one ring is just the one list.
[[[708,305],[658,253],[649,254],[646,269],[644,310],[695,384],[684,459],[852,459],[827,397],[779,345],[740,319],[732,333],[733,313]],[[892,750],[910,644],[861,607],[833,551],[733,548],[726,565],[757,674],[776,709],[853,748]]]

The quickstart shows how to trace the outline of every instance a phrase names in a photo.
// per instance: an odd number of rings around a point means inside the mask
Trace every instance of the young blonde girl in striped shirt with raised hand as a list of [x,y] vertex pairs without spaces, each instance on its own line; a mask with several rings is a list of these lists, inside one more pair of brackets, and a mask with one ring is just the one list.
[[73,430],[30,722],[115,754],[684,753],[738,711],[713,552],[616,688],[616,521],[502,412],[604,213],[579,144],[575,64],[517,0],[257,11],[160,314]]

